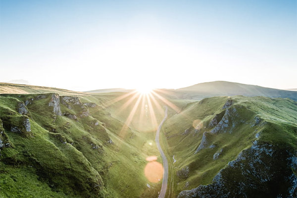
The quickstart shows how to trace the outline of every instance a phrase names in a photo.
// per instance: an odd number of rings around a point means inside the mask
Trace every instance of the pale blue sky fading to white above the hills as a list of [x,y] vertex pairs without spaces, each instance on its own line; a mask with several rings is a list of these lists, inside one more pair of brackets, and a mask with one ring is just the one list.
[[0,0],[0,82],[297,88],[296,0]]

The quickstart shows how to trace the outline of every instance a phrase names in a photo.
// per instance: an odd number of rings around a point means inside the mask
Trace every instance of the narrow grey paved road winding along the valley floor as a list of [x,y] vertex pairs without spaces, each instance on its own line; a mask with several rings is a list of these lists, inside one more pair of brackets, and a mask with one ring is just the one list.
[[167,118],[167,110],[168,110],[168,107],[165,106],[165,115],[164,115],[164,118],[162,120],[162,122],[160,123],[159,127],[158,127],[158,130],[157,130],[157,134],[156,134],[156,144],[157,144],[157,148],[159,149],[160,153],[161,153],[161,156],[162,156],[162,160],[163,160],[163,169],[164,169],[164,172],[163,172],[163,181],[162,181],[162,187],[161,187],[161,191],[160,191],[160,194],[159,194],[159,197],[158,198],[165,198],[165,194],[166,194],[166,190],[167,190],[167,180],[168,180],[168,161],[166,159],[166,156],[160,146],[160,142],[159,142],[159,135],[160,135],[160,130],[161,130],[161,127],[163,125],[163,123],[165,122],[166,118]]

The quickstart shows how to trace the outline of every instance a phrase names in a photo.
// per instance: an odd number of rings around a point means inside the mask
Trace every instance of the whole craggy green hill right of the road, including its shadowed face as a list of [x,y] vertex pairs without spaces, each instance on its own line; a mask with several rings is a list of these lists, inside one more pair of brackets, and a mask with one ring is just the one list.
[[296,197],[296,123],[291,99],[189,103],[163,128],[168,155],[176,159],[171,197]]

